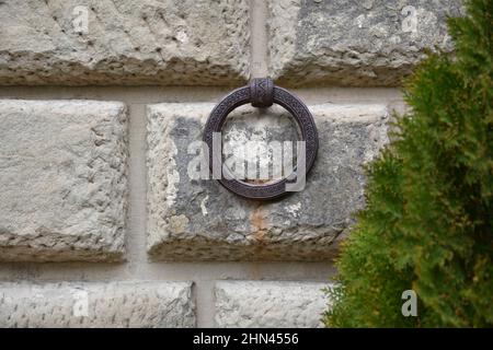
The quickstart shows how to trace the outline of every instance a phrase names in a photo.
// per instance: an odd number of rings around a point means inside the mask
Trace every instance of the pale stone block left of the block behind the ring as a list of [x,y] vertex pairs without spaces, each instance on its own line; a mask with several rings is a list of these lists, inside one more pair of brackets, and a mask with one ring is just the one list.
[[119,260],[127,109],[0,101],[0,260]]

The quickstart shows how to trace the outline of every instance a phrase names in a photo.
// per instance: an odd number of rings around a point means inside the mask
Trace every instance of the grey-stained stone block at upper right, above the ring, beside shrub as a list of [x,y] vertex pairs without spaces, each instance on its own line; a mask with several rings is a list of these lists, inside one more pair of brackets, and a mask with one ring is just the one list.
[[459,0],[272,0],[268,7],[270,73],[289,85],[400,85],[425,48],[452,48],[446,16],[462,12]]

